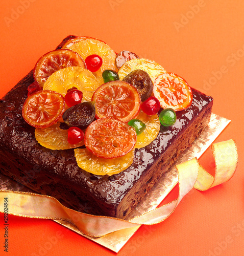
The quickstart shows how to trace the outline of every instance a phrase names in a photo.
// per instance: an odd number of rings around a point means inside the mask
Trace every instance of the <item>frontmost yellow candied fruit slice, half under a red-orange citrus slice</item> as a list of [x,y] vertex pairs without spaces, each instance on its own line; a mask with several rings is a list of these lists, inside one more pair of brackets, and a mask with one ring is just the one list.
[[95,175],[113,175],[127,169],[133,162],[134,150],[114,159],[100,158],[93,155],[87,148],[77,148],[75,157],[78,166]]

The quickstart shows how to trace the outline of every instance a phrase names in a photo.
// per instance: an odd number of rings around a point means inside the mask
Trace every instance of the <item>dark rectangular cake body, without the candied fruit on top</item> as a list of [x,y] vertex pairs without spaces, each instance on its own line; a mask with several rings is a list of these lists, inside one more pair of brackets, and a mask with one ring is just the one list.
[[99,176],[77,165],[74,150],[50,150],[37,142],[35,128],[22,118],[27,88],[33,81],[31,71],[0,101],[1,172],[70,208],[121,219],[205,129],[213,103],[210,96],[191,88],[192,103],[177,112],[173,126],[161,125],[153,142],[135,150],[126,170]]

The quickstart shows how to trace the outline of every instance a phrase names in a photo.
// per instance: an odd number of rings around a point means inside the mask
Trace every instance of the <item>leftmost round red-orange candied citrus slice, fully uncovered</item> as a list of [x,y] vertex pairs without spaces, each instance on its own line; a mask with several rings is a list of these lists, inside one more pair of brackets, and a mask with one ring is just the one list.
[[23,119],[34,127],[44,128],[56,123],[64,113],[64,97],[53,91],[31,94],[23,104]]

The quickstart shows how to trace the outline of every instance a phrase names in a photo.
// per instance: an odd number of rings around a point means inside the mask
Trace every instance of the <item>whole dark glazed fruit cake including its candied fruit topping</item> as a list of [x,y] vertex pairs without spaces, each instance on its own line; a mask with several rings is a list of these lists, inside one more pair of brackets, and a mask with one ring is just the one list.
[[[97,41],[102,48],[108,47],[94,38],[68,36],[0,101],[0,170],[70,208],[125,219],[208,125],[213,100],[154,61],[129,51],[115,54],[111,50],[109,57],[98,54]],[[77,50],[81,45],[87,56]],[[93,52],[87,50],[92,47]],[[72,55],[75,68],[66,61],[64,68],[47,74],[51,69],[45,70],[46,63],[62,62],[65,54],[66,59]],[[65,81],[59,73],[64,70]],[[67,86],[67,72],[80,80],[72,78]],[[92,90],[80,82],[93,84],[94,79],[98,86]],[[171,98],[165,91],[167,84],[178,86],[170,89]],[[112,111],[111,105],[104,108],[108,95],[121,93],[121,88],[134,103],[130,105],[126,98],[124,105],[119,103]],[[36,117],[37,97],[54,102],[52,110],[46,106],[52,117],[43,113]],[[99,136],[105,136],[109,145]]]

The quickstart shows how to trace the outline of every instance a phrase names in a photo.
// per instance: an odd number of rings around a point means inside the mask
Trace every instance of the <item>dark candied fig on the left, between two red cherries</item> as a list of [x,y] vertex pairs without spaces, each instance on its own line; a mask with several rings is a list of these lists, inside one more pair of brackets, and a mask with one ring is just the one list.
[[88,101],[71,106],[63,114],[64,122],[69,126],[76,126],[80,129],[86,129],[86,127],[95,118],[95,102]]

